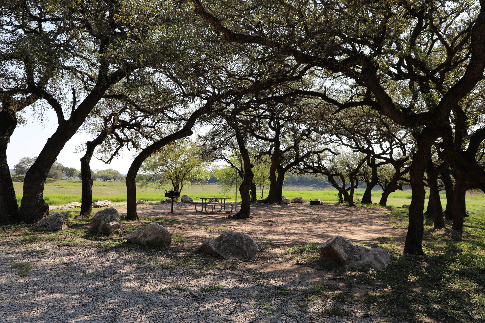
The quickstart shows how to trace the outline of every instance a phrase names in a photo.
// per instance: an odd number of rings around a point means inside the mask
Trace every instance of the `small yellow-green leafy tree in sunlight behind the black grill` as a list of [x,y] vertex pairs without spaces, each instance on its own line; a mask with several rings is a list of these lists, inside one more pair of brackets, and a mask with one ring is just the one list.
[[142,185],[171,184],[175,191],[182,191],[184,184],[201,183],[210,177],[204,151],[198,141],[177,140],[146,159],[138,175]]

